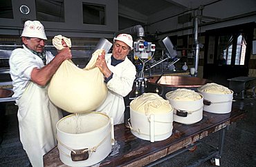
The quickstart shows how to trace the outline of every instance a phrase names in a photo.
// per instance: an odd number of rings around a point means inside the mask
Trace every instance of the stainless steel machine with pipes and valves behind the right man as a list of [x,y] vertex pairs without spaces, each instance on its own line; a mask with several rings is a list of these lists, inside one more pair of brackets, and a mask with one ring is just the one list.
[[136,95],[139,95],[145,91],[148,78],[152,77],[151,72],[149,72],[149,76],[145,77],[145,71],[151,71],[152,68],[167,60],[171,60],[171,62],[168,62],[167,67],[174,66],[174,63],[179,61],[179,59],[176,58],[177,52],[174,49],[170,38],[165,37],[163,40],[161,40],[160,43],[163,48],[166,48],[165,50],[162,50],[162,58],[158,61],[155,61],[154,63],[148,63],[154,59],[156,44],[144,39],[144,28],[140,25],[137,25],[131,28],[126,28],[125,30],[120,30],[116,32],[114,36],[117,36],[121,33],[129,33],[130,35],[136,35],[136,37],[138,37],[134,40],[133,60],[137,69],[137,76],[134,81],[136,88],[135,92]]

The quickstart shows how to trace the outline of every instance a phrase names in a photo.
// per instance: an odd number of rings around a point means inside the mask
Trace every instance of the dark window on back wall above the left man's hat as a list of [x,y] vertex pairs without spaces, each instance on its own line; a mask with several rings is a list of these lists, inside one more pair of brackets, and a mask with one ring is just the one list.
[[37,20],[64,22],[64,0],[36,0]]

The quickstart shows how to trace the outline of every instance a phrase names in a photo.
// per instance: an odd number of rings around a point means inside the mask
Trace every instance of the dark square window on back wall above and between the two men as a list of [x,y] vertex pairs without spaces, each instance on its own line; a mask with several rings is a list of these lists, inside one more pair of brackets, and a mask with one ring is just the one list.
[[105,6],[83,3],[83,23],[105,25]]

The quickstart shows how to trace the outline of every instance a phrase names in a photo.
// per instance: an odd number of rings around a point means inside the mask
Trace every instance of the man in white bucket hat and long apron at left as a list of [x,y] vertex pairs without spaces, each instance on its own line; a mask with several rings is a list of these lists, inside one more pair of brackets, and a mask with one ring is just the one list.
[[26,21],[21,34],[23,48],[12,51],[10,76],[19,110],[19,135],[32,166],[44,166],[43,155],[57,144],[57,121],[62,112],[48,98],[48,82],[71,50],[64,48],[53,57],[44,50],[46,34],[39,21]]

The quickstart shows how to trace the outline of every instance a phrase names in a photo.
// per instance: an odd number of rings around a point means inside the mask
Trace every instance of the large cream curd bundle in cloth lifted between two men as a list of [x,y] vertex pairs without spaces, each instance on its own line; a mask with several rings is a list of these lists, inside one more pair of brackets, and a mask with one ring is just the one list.
[[87,66],[82,69],[71,60],[66,60],[58,68],[48,87],[48,96],[59,108],[67,112],[87,112],[95,110],[107,97],[107,86],[96,60],[102,50],[96,50]]

